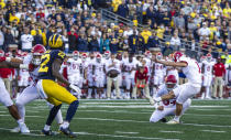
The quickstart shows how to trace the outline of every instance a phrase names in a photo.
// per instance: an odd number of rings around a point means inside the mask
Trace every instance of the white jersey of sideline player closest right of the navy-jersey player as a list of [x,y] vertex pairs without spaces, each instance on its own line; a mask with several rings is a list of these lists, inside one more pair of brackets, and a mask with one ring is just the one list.
[[67,75],[74,75],[74,74],[80,74],[80,65],[81,65],[81,60],[74,60],[69,58],[67,61],[69,64],[67,65]]

